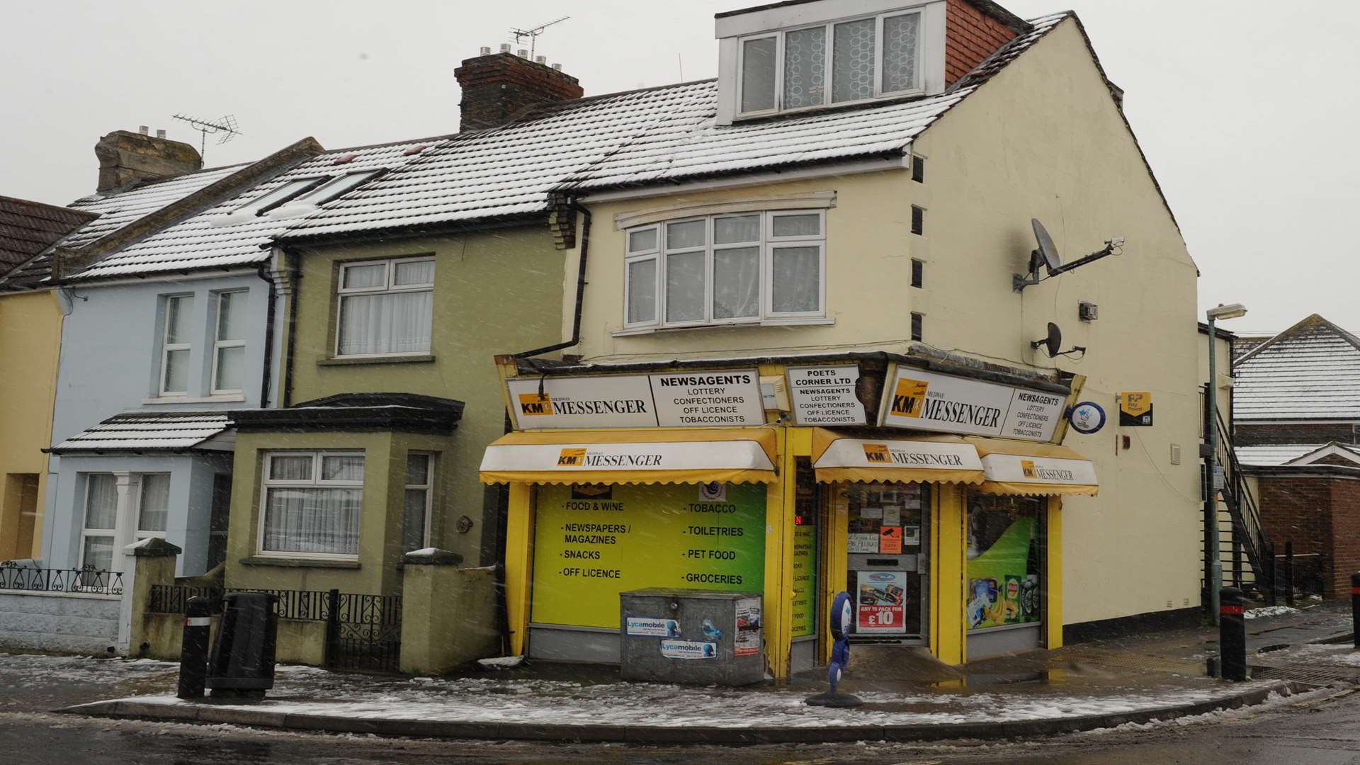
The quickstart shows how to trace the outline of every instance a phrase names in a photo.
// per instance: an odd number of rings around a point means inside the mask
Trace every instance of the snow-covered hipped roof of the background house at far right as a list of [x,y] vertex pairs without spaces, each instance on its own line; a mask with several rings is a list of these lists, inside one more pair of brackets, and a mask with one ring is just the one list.
[[1360,419],[1360,339],[1312,314],[1242,358],[1234,419]]

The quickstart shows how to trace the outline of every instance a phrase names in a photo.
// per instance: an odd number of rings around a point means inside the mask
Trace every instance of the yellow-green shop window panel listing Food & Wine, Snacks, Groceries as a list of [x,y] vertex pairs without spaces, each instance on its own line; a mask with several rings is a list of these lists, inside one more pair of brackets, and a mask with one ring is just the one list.
[[692,485],[616,485],[609,500],[540,486],[532,621],[616,630],[620,592],[760,592],[764,536],[763,485],[730,485],[725,502]]

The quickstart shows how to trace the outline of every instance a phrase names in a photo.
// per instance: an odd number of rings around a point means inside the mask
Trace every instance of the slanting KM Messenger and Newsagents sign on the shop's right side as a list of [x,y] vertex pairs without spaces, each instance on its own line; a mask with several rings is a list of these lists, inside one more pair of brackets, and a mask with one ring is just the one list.
[[879,421],[889,427],[1051,441],[1066,404],[1061,393],[911,366],[896,366],[888,380]]

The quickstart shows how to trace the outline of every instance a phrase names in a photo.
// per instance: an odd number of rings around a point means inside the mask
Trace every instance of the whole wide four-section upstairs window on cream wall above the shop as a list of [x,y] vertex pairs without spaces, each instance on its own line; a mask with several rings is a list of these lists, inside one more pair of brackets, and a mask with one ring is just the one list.
[[820,319],[826,215],[706,215],[627,231],[624,327]]

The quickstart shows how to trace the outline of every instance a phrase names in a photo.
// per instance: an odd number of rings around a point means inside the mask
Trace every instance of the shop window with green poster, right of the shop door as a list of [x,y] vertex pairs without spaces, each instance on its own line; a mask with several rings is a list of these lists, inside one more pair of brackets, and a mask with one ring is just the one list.
[[1043,621],[1043,509],[1035,497],[968,495],[968,630]]

